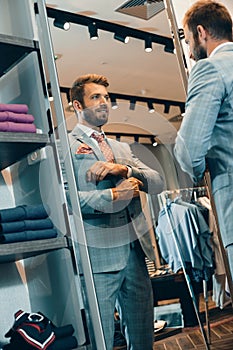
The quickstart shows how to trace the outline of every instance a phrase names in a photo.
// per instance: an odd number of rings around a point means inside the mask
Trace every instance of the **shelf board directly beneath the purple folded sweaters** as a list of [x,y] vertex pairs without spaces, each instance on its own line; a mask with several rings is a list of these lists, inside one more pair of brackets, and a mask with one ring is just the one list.
[[48,135],[45,134],[0,132],[0,170],[46,146],[48,142]]

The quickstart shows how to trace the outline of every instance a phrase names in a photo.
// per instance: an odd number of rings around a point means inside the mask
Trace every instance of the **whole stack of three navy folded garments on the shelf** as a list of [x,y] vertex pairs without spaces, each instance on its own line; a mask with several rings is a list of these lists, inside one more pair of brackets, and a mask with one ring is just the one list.
[[0,243],[55,238],[57,230],[43,204],[0,210]]

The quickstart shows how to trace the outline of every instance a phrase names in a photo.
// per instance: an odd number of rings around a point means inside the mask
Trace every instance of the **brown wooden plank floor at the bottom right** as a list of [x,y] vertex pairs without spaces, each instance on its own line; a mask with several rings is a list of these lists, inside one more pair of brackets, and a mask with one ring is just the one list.
[[[209,311],[210,345],[206,346],[199,327],[183,328],[179,333],[167,336],[154,343],[154,350],[232,350],[233,309],[229,305],[223,310],[212,307]],[[206,330],[206,328],[205,328]],[[166,329],[164,330],[164,332]],[[163,331],[162,331],[163,332]],[[206,330],[207,333],[207,330]],[[162,333],[161,333],[162,336]]]

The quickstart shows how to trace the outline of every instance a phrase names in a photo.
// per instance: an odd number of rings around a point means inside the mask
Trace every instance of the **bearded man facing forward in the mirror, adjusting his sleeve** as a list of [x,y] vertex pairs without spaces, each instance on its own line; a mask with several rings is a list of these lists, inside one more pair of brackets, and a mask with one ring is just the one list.
[[108,85],[105,77],[88,74],[71,88],[78,118],[69,135],[74,174],[106,348],[113,348],[116,305],[128,349],[152,350],[153,293],[145,256],[155,256],[139,195],[161,192],[163,180],[127,143],[105,137]]

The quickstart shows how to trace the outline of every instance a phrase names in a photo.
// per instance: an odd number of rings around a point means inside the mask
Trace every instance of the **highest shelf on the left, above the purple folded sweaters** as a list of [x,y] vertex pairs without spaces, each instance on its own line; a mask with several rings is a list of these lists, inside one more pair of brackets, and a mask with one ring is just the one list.
[[36,50],[38,50],[37,41],[0,34],[0,77]]

